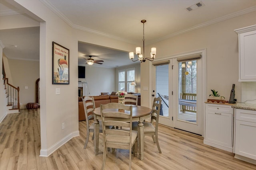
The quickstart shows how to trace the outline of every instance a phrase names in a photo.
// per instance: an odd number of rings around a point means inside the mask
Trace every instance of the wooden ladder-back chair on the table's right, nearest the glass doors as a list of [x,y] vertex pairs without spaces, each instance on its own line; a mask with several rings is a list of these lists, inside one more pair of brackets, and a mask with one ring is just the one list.
[[[154,143],[156,143],[159,153],[162,153],[159,142],[158,142],[158,120],[160,115],[162,100],[160,97],[154,98],[152,113],[151,113],[151,121],[150,122],[142,122],[144,125],[144,135],[152,135]],[[155,120],[155,123],[153,123]],[[155,126],[154,126],[155,124]],[[138,122],[132,123],[132,130],[138,131]]]

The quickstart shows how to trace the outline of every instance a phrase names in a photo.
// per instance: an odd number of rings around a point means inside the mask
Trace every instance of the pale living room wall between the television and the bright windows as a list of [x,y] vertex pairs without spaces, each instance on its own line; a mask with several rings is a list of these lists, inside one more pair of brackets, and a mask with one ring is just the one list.
[[115,91],[115,68],[86,66],[85,78],[90,96],[98,96],[101,92]]

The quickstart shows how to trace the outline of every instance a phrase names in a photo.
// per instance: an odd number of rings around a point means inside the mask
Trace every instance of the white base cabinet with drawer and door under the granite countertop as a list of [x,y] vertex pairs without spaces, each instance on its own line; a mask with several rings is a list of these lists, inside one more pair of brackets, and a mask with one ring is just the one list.
[[[256,163],[256,111],[235,109],[235,158]],[[244,156],[244,157],[241,157]]]

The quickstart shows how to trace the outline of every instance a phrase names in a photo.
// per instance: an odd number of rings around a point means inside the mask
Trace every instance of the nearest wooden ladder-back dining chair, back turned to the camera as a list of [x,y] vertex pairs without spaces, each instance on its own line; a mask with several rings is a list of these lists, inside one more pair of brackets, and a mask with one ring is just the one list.
[[[116,111],[104,111],[104,109],[116,109]],[[124,113],[128,111],[127,113]],[[137,153],[138,132],[132,130],[132,106],[118,103],[100,104],[102,118],[104,151],[102,170],[105,168],[106,153],[108,148],[129,149],[129,170],[132,163],[132,146]],[[127,129],[106,129],[105,126],[120,126]]]

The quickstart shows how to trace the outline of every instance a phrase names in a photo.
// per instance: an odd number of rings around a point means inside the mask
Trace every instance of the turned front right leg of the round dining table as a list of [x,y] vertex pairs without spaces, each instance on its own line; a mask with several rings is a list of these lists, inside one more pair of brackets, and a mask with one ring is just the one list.
[[144,159],[144,125],[140,119],[138,123],[138,143],[139,143],[139,158],[140,160]]

